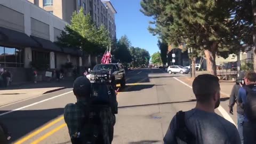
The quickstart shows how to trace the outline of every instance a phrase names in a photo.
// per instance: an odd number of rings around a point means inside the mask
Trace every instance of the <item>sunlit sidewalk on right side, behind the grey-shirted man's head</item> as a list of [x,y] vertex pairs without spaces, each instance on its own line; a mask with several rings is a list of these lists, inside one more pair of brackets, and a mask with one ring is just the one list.
[[[185,82],[192,86],[193,79],[190,77],[179,77],[182,82]],[[231,90],[235,82],[220,81],[221,98],[229,98]]]

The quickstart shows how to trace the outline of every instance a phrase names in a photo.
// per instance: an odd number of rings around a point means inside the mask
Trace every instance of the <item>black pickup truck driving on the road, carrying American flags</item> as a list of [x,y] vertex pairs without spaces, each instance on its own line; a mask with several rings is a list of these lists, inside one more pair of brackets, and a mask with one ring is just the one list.
[[108,64],[98,64],[94,66],[92,71],[89,71],[89,75],[86,75],[90,81],[93,81],[95,73],[100,70],[109,70],[110,71],[110,81],[113,86],[120,83],[121,87],[125,87],[125,70],[124,66],[121,63],[108,63]]

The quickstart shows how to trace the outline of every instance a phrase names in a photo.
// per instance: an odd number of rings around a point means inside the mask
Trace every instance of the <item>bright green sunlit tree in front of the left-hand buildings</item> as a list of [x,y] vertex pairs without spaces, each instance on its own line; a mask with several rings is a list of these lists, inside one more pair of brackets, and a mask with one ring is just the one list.
[[71,24],[65,27],[57,44],[67,47],[79,47],[90,54],[103,53],[111,44],[108,30],[101,26],[96,28],[90,14],[84,15],[84,9],[74,12]]

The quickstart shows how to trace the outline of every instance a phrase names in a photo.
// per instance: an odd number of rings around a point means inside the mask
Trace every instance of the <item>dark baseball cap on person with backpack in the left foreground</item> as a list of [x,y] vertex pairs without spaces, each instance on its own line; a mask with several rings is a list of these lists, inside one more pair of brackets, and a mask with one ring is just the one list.
[[73,91],[84,92],[84,94],[90,94],[91,82],[84,76],[77,77],[73,84]]

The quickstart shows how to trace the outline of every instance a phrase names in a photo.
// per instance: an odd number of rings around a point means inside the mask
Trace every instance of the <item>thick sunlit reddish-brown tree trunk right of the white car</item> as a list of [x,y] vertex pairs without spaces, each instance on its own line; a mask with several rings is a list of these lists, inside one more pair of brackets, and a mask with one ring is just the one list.
[[204,54],[207,62],[207,71],[210,74],[217,76],[217,69],[215,63],[216,51],[204,50]]

